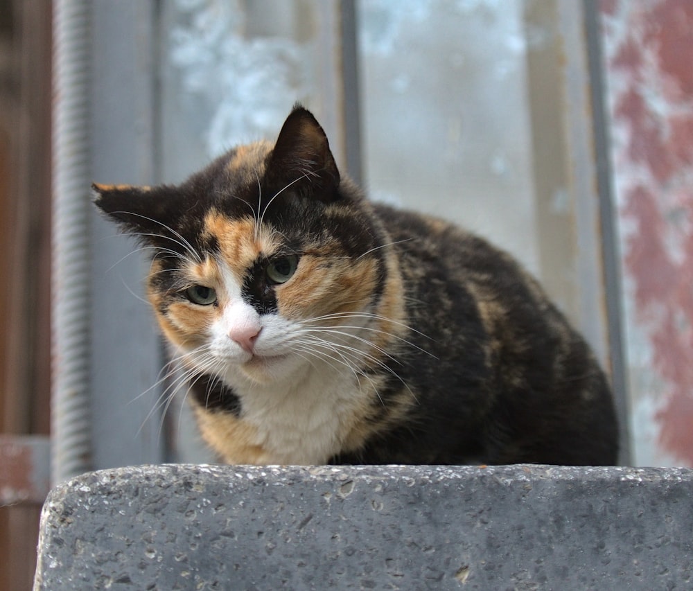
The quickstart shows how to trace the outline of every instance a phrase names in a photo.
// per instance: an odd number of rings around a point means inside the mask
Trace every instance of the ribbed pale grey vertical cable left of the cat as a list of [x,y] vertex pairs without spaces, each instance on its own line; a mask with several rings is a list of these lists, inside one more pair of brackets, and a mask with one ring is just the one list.
[[91,468],[89,78],[91,5],[53,3],[53,484]]

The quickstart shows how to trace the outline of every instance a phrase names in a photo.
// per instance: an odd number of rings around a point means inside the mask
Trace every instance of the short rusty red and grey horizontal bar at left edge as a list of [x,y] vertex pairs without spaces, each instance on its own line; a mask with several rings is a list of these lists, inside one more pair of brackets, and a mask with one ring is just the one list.
[[42,504],[51,488],[51,439],[0,435],[0,506]]

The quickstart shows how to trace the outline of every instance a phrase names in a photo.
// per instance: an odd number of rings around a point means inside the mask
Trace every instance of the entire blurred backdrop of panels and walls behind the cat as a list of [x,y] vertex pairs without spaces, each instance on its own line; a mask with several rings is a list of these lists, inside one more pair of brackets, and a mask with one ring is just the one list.
[[541,279],[622,464],[693,467],[692,58],[687,0],[0,0],[0,589],[51,485],[213,461],[89,184],[179,182],[297,100],[371,197]]

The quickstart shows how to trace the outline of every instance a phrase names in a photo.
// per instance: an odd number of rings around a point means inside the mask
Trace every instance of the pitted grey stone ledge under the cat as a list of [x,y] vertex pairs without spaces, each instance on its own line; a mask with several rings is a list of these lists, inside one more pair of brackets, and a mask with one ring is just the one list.
[[693,470],[140,466],[44,506],[35,590],[690,589]]

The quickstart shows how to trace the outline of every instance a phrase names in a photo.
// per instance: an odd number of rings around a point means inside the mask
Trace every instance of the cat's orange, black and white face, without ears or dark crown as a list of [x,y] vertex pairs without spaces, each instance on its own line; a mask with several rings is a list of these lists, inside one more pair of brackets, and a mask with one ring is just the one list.
[[[197,369],[238,369],[258,382],[288,378],[316,346],[326,353],[338,342],[326,327],[359,324],[354,316],[371,303],[374,258],[335,256],[339,245],[324,236],[300,240],[288,229],[213,210],[203,227],[217,252],[176,257],[175,271],[155,260],[149,285],[161,328],[192,353],[187,359]],[[159,274],[175,277],[173,288]]]

